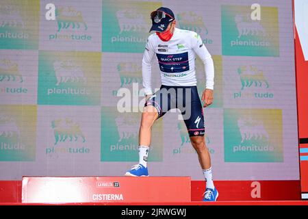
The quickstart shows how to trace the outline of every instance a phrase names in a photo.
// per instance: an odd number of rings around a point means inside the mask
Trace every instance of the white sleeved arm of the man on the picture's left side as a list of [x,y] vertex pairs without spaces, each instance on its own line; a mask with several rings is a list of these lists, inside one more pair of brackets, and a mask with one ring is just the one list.
[[146,94],[146,96],[153,94],[151,87],[151,72],[152,72],[152,60],[154,54],[155,51],[153,51],[148,39],[142,58],[142,80],[143,80],[142,84],[144,87],[144,94]]

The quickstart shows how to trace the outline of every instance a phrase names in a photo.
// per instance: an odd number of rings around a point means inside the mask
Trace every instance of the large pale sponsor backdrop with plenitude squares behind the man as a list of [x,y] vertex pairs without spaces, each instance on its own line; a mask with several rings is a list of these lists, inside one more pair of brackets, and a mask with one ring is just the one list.
[[[46,5],[55,4],[48,20]],[[215,64],[205,142],[215,180],[297,180],[292,1],[31,0],[0,5],[0,180],[123,176],[138,162],[150,12],[172,8]],[[153,61],[153,88],[159,88]],[[196,60],[198,92],[205,88]],[[175,110],[153,127],[151,176],[202,180]]]

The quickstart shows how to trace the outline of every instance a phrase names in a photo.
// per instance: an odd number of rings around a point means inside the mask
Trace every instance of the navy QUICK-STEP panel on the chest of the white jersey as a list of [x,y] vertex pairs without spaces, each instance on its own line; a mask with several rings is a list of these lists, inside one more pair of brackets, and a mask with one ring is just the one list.
[[164,73],[181,73],[190,70],[188,52],[164,55],[156,53],[159,68]]

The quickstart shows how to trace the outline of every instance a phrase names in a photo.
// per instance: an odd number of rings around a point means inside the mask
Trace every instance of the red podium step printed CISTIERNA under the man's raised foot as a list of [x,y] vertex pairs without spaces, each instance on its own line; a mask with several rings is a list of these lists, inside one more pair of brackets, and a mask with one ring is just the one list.
[[191,201],[190,177],[23,177],[22,203]]

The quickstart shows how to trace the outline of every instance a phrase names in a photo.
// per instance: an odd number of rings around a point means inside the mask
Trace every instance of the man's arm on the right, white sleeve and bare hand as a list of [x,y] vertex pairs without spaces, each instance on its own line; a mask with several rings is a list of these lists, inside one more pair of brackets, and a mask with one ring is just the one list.
[[211,54],[209,54],[209,51],[207,51],[207,48],[203,44],[203,41],[201,40],[201,37],[199,35],[194,36],[192,43],[194,51],[196,52],[198,57],[201,58],[205,68],[206,85],[201,100],[204,101],[203,107],[207,107],[208,105],[211,105],[211,103],[213,103],[214,99],[214,62],[211,58]]

